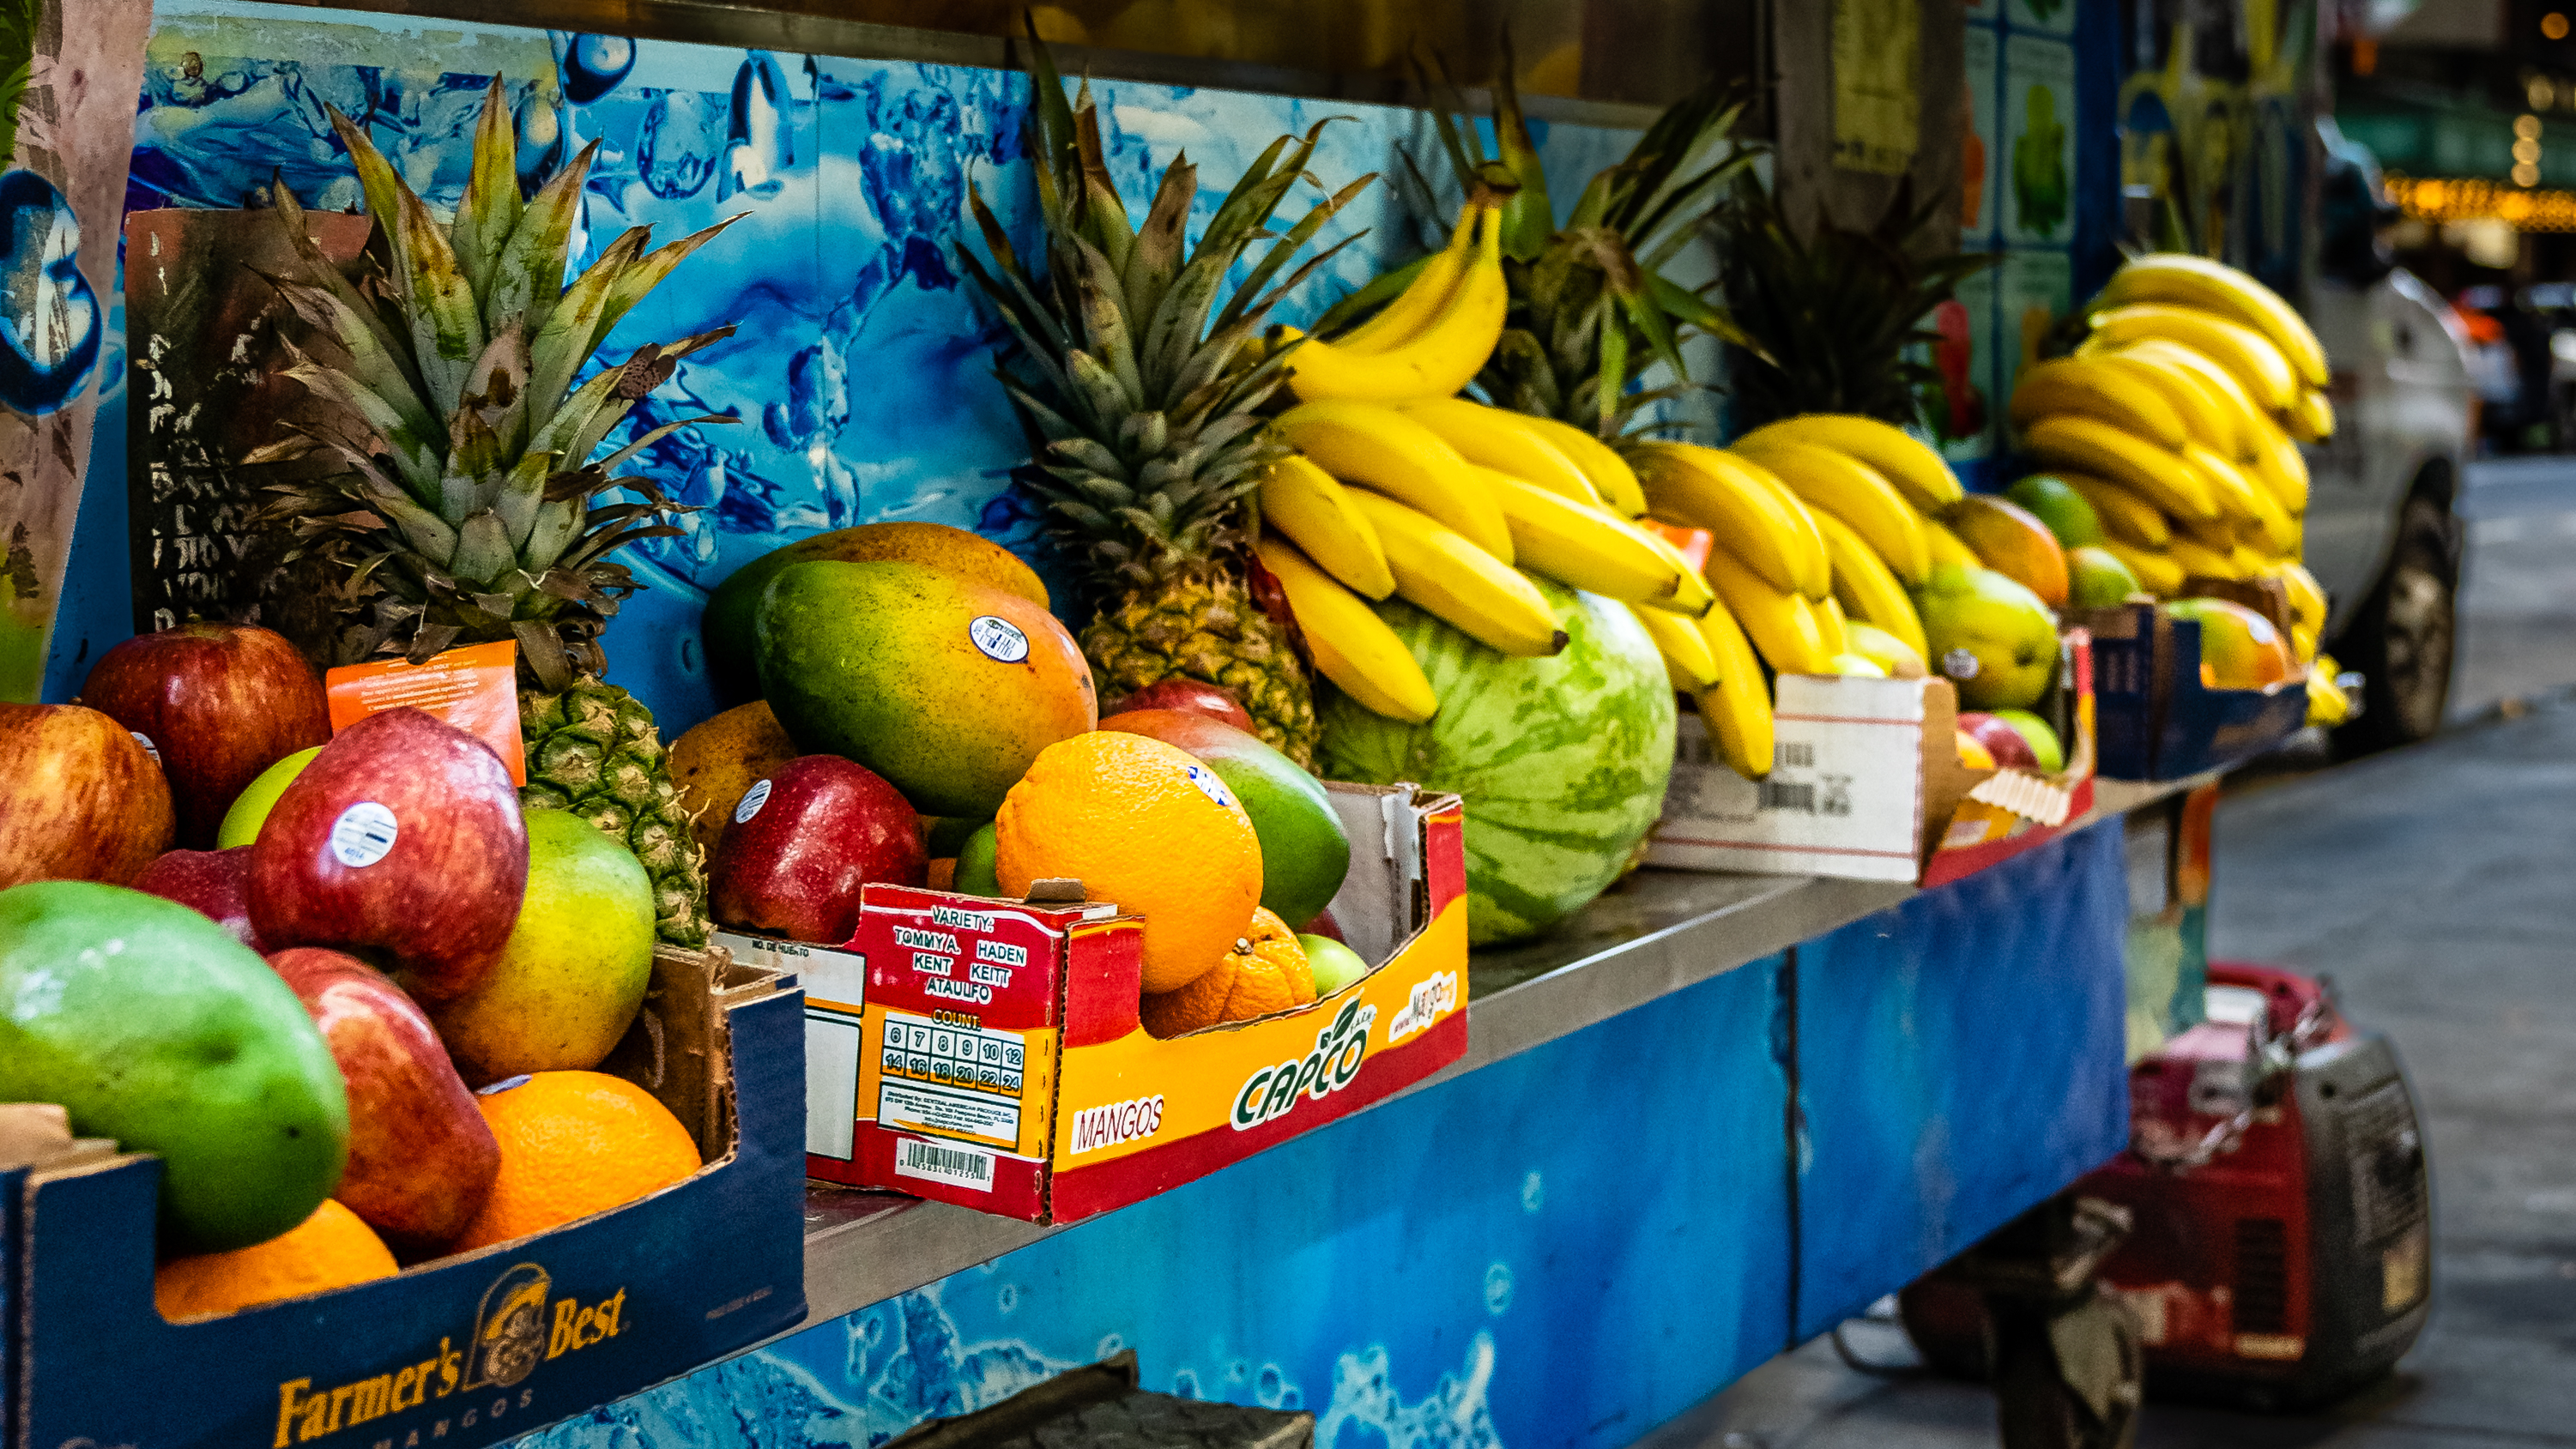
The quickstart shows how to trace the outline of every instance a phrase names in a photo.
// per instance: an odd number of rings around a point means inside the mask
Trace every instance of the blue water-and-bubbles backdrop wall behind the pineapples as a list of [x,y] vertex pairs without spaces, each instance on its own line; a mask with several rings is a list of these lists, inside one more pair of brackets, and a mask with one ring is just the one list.
[[[641,461],[701,510],[685,535],[626,551],[649,587],[608,633],[611,679],[641,695],[667,736],[714,708],[696,638],[706,589],[788,538],[904,517],[1043,553],[1038,517],[1005,476],[1025,445],[989,378],[997,332],[956,263],[969,185],[1023,255],[1036,237],[1018,72],[167,0],[126,206],[250,206],[273,178],[304,206],[355,206],[325,106],[361,118],[404,178],[448,206],[492,75],[507,80],[531,172],[600,144],[582,216],[590,252],[634,224],[675,239],[742,216],[600,350],[623,358],[739,327],[683,360],[626,427],[703,412],[739,420],[667,438]],[[1321,188],[1386,178],[1316,237],[1321,247],[1365,232],[1283,306],[1285,322],[1309,322],[1388,260],[1417,255],[1427,234],[1391,185],[1399,152],[1425,175],[1445,170],[1419,111],[1136,82],[1095,90],[1136,214],[1175,154],[1198,165],[1193,234],[1262,147],[1327,118],[1309,162]],[[1633,142],[1589,126],[1540,131],[1561,206]],[[1283,216],[1321,196],[1301,188]],[[124,461],[121,350],[108,363],[93,479],[118,479]],[[98,649],[131,628],[113,484],[88,492],[80,530],[80,589],[57,625],[49,697],[70,697]]]

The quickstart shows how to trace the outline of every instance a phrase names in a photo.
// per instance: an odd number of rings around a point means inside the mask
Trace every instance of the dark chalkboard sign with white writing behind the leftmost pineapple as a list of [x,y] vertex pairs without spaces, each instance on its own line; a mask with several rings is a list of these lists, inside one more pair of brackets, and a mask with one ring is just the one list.
[[[348,268],[371,221],[307,211],[322,255]],[[134,551],[134,628],[191,618],[260,623],[314,664],[340,664],[348,623],[340,569],[286,561],[294,530],[260,522],[276,484],[332,471],[314,456],[242,463],[289,435],[312,407],[281,376],[291,365],[278,322],[291,311],[265,275],[294,252],[273,211],[137,211],[126,219],[126,445]],[[263,275],[265,273],[265,275]]]

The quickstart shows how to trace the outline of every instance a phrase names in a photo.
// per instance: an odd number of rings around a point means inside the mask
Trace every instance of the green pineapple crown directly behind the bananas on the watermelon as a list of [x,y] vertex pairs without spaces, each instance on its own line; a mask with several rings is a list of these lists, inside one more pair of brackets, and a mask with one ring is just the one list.
[[[1512,36],[1504,31],[1494,82],[1497,157],[1489,160],[1440,57],[1414,59],[1414,80],[1432,100],[1432,126],[1458,183],[1468,193],[1510,190],[1502,250],[1512,314],[1479,381],[1504,407],[1618,435],[1641,407],[1687,391],[1680,345],[1690,329],[1762,350],[1726,309],[1662,275],[1726,183],[1754,165],[1759,147],[1734,142],[1741,103],[1718,90],[1690,95],[1656,116],[1625,160],[1584,185],[1558,229],[1512,72]],[[1430,193],[1430,185],[1422,190]],[[1651,363],[1664,363],[1674,386],[1631,394]]]

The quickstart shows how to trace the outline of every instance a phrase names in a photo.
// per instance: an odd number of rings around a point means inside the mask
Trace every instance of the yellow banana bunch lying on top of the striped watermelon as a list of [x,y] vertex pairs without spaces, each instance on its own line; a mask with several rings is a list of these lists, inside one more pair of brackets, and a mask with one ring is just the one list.
[[1669,538],[1633,522],[1646,497],[1607,443],[1455,396],[1499,335],[1497,229],[1471,203],[1376,317],[1332,342],[1291,337],[1301,401],[1273,430],[1293,453],[1262,476],[1255,553],[1316,672],[1388,718],[1422,723],[1440,700],[1370,600],[1401,597],[1515,656],[1566,643],[1522,571],[1633,605],[1659,641],[1716,602]]

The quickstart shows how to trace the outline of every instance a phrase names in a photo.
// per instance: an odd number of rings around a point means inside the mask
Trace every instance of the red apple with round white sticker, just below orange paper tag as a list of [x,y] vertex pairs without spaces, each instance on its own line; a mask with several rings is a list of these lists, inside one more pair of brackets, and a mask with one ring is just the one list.
[[260,937],[374,955],[422,1001],[482,986],[528,893],[510,770],[410,708],[325,744],[247,849]]

